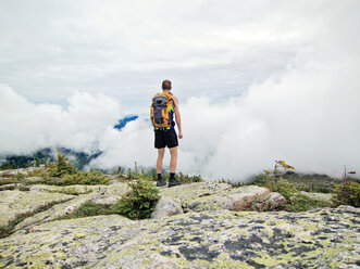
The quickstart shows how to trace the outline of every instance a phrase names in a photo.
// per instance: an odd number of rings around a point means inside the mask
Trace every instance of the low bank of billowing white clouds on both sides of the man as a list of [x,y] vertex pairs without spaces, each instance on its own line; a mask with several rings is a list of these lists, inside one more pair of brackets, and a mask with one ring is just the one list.
[[[184,139],[178,171],[244,181],[272,167],[275,159],[285,159],[299,171],[331,176],[340,176],[343,165],[359,170],[359,62],[324,62],[323,56],[306,51],[281,76],[227,101],[195,97],[181,103]],[[97,168],[133,167],[135,162],[154,165],[148,118],[117,131],[113,125],[124,113],[111,97],[78,93],[63,110],[33,104],[5,86],[0,95],[2,153],[61,144],[102,151],[91,163]]]

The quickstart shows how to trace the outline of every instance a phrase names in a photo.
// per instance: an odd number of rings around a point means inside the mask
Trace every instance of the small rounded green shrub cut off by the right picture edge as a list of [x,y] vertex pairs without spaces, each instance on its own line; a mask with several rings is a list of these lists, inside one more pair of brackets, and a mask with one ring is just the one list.
[[360,182],[343,182],[335,185],[333,192],[334,206],[351,205],[360,207]]

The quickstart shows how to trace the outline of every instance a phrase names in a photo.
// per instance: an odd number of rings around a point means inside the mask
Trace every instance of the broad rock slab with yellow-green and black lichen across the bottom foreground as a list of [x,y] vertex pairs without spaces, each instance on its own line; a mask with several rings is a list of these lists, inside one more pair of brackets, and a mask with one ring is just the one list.
[[8,268],[356,268],[359,221],[360,210],[353,207],[193,212],[141,221],[116,215],[58,220],[0,240],[0,264]]

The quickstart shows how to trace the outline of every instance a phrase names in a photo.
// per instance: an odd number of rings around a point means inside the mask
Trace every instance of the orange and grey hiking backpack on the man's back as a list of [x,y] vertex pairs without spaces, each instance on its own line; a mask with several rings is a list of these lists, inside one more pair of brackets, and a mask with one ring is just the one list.
[[156,129],[171,129],[173,121],[173,98],[170,92],[158,93],[152,98],[150,118]]

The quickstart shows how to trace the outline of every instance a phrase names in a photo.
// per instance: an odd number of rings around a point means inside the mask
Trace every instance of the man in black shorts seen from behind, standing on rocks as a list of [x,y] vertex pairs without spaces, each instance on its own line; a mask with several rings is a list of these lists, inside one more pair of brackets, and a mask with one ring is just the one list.
[[[162,178],[162,161],[164,157],[165,153],[165,146],[169,148],[170,151],[170,179],[169,179],[169,188],[179,185],[181,182],[178,182],[175,179],[175,170],[176,170],[176,163],[177,163],[177,146],[178,146],[178,141],[177,141],[177,134],[175,131],[175,123],[174,123],[174,114],[175,114],[175,121],[177,125],[178,129],[178,138],[183,138],[183,131],[182,131],[182,118],[178,110],[178,99],[171,93],[171,81],[170,80],[164,80],[162,81],[162,93],[157,94],[156,97],[160,97],[160,99],[165,100],[166,102],[166,127],[164,126],[164,120],[163,117],[160,118],[161,124],[160,125],[154,125],[154,148],[158,149],[158,159],[157,159],[157,174],[158,174],[158,181],[157,185],[165,185],[166,182]],[[153,100],[156,100],[156,97]],[[166,98],[166,99],[164,99]],[[153,101],[154,102],[154,101]],[[170,103],[169,103],[170,102]],[[161,103],[161,100],[159,101]],[[152,105],[152,110],[154,106]],[[164,107],[164,106],[162,106]],[[158,110],[159,111],[159,110]],[[169,114],[167,114],[169,113]],[[153,123],[153,116],[157,113],[151,114],[151,120]],[[158,113],[158,115],[163,115]],[[169,123],[169,124],[167,124]],[[158,127],[157,127],[158,126]]]

